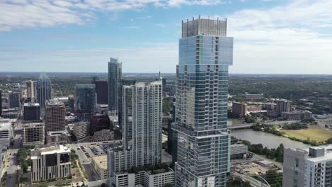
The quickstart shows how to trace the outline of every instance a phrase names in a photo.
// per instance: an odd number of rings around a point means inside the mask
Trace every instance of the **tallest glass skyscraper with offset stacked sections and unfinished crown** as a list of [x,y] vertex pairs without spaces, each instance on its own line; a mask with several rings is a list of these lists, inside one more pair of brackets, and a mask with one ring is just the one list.
[[228,66],[233,38],[226,19],[182,21],[177,65],[175,186],[226,186]]

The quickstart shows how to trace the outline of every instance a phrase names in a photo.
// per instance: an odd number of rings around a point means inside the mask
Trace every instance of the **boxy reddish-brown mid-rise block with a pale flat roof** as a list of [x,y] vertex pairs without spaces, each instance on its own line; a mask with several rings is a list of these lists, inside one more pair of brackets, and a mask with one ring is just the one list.
[[50,100],[45,106],[45,132],[65,130],[66,107],[59,101]]

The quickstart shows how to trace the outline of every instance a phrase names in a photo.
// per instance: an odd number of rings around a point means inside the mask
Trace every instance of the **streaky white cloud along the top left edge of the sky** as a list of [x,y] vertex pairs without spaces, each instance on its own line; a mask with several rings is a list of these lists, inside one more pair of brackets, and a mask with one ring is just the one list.
[[[213,5],[221,0],[2,0],[0,31],[13,28],[84,24],[96,11],[141,10],[145,6]],[[147,17],[148,18],[148,17]]]

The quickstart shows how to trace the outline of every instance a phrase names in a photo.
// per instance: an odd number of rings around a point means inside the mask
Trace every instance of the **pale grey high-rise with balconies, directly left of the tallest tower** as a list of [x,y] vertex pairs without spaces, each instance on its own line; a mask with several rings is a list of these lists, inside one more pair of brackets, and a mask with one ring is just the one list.
[[162,82],[123,86],[124,148],[109,152],[109,181],[118,171],[160,164],[161,140]]

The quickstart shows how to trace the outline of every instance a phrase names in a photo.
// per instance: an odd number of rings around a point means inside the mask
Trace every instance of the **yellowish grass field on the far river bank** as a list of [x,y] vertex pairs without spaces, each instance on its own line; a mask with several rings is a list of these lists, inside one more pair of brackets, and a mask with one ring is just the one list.
[[316,142],[323,142],[332,137],[332,131],[321,128],[319,125],[309,125],[308,129],[301,130],[284,130],[285,135],[289,137],[297,137],[301,140],[316,140]]

